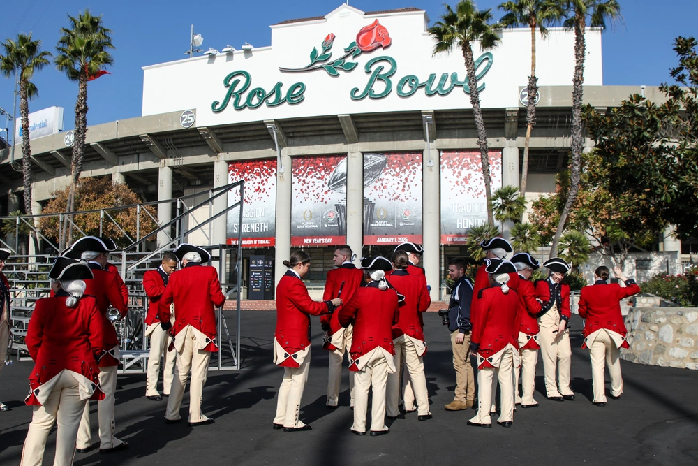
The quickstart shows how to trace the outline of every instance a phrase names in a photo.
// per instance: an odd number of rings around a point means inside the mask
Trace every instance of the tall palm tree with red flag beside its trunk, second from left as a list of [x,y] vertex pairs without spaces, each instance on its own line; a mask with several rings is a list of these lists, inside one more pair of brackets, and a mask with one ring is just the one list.
[[[77,101],[75,102],[75,142],[71,160],[70,195],[66,212],[72,212],[75,205],[75,184],[82,173],[84,142],[87,133],[87,82],[105,73],[104,68],[114,62],[107,50],[114,49],[110,34],[102,23],[102,16],[93,16],[88,9],[73,17],[68,15],[70,28],[61,28],[58,40],[59,54],[55,63],[68,79],[77,81]],[[61,249],[66,245],[66,225],[61,228]],[[70,238],[68,238],[70,242]]]

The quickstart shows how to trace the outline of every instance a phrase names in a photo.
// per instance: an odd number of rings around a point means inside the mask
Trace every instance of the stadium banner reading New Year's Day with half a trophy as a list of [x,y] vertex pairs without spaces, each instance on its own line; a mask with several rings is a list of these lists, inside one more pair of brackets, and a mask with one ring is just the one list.
[[294,157],[291,246],[346,242],[346,155]]

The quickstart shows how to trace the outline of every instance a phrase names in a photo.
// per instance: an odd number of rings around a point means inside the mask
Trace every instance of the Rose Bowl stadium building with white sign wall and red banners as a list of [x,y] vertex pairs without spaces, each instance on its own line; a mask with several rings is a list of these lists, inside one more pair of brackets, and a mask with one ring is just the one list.
[[[487,214],[463,57],[459,50],[433,54],[428,24],[419,8],[364,13],[342,5],[272,25],[269,47],[146,66],[142,116],[89,126],[82,176],[110,176],[147,201],[206,198],[209,189],[243,179],[245,279],[249,257],[267,256],[278,279],[290,249],[306,248],[309,285],[322,286],[336,245],[362,256],[411,241],[424,245],[421,265],[440,298],[434,285],[443,282],[445,264],[466,254],[468,228]],[[530,73],[530,30],[500,34],[496,48],[474,47],[493,190],[519,185]],[[639,92],[661,101],[655,87],[603,85],[601,38],[588,29],[584,102],[605,109]],[[556,173],[567,166],[573,47],[574,33],[564,29],[537,38],[529,200],[554,191]],[[31,143],[35,214],[70,182],[70,136]],[[9,162],[3,150],[1,214],[21,204],[21,173]],[[234,201],[233,194],[216,198],[200,218]],[[161,222],[172,215],[158,210]],[[232,244],[237,215],[219,217],[189,242]],[[680,249],[667,236],[653,251],[674,252],[667,270],[676,272]]]

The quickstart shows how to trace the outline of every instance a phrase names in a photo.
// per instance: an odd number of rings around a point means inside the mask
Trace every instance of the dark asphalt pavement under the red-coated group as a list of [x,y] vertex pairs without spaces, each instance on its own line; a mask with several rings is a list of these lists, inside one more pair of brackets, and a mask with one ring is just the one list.
[[[214,425],[165,425],[165,402],[144,398],[145,374],[119,376],[117,435],[126,451],[75,457],[75,465],[696,465],[698,464],[698,372],[623,362],[625,393],[605,408],[591,404],[591,367],[581,346],[581,320],[573,318],[574,402],[551,402],[543,395],[538,363],[536,400],[519,409],[513,428],[466,425],[474,412],[447,412],[454,372],[447,330],[436,313],[425,317],[425,356],[433,420],[416,413],[389,421],[390,434],[356,437],[349,431],[348,380],[343,378],[339,409],[325,407],[327,354],[318,318],[313,318],[313,355],[302,403],[311,432],[272,430],[282,370],[272,364],[274,312],[243,312],[243,368],[209,372],[203,412]],[[229,322],[233,320],[230,319]],[[0,412],[0,465],[17,465],[31,420],[27,393],[31,362],[15,362],[0,375],[0,399],[13,408]],[[608,387],[607,387],[608,389]],[[182,416],[186,419],[186,403]],[[370,409],[369,409],[370,412]],[[96,431],[96,404],[92,405]],[[96,439],[96,432],[93,435]],[[52,464],[55,430],[44,464]]]

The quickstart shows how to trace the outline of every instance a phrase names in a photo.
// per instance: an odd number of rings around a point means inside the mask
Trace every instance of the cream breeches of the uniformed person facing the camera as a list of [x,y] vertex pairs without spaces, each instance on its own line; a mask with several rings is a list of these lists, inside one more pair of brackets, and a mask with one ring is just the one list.
[[553,333],[554,330],[557,330],[557,327],[541,327],[538,334],[545,374],[545,391],[548,398],[574,394],[570,388],[570,365],[572,364],[570,330],[565,330],[561,334]]

